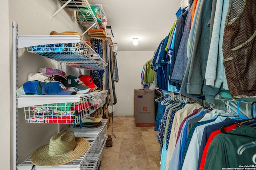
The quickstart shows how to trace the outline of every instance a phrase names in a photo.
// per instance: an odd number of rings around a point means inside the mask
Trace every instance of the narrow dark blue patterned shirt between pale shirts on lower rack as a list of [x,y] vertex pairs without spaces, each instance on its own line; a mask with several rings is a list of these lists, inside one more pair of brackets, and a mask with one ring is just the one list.
[[194,123],[194,125],[191,127],[189,133],[188,133],[188,139],[186,140],[186,145],[184,147],[184,150],[182,152],[182,160],[181,160],[181,167],[183,165],[183,162],[184,162],[184,159],[185,159],[185,156],[186,156],[186,153],[188,151],[188,146],[189,146],[189,143],[190,143],[190,140],[193,136],[193,133],[194,133],[194,130],[196,129],[197,126],[200,126],[200,125],[204,125],[206,123],[210,123],[212,121],[215,121],[217,117],[214,117],[214,119],[210,119],[210,120],[206,120],[206,121],[200,121],[200,122],[197,122],[197,123]]

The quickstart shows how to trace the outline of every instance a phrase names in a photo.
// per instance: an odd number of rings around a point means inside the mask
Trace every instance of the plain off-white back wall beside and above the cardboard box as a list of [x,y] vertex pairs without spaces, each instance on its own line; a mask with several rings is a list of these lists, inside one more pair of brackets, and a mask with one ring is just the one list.
[[133,90],[142,88],[142,68],[153,54],[154,51],[118,51],[119,82],[115,83],[118,102],[114,105],[114,115],[134,115],[131,110],[134,107]]

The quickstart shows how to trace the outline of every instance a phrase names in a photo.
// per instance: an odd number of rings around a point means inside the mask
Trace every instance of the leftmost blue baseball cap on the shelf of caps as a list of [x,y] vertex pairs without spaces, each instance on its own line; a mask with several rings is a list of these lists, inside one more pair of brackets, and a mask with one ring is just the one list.
[[26,95],[42,94],[42,86],[45,82],[40,81],[28,81],[23,84],[23,89]]

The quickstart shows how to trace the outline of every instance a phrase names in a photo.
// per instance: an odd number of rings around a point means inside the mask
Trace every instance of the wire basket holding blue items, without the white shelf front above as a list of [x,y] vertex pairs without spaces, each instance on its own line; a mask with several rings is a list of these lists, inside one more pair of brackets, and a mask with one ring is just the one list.
[[[53,36],[49,35],[49,39]],[[73,35],[70,35],[73,36]],[[78,43],[54,43],[27,47],[28,52],[50,58],[72,67],[89,70],[104,70],[107,63],[84,40]]]

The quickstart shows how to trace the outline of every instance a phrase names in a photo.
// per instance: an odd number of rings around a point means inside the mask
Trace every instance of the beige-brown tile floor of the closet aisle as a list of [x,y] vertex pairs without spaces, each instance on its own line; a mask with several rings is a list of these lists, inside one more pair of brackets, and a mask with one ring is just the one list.
[[[112,117],[107,134],[111,135]],[[154,127],[136,127],[133,116],[113,117],[113,146],[106,148],[100,170],[160,170]]]

